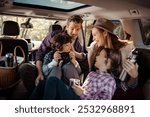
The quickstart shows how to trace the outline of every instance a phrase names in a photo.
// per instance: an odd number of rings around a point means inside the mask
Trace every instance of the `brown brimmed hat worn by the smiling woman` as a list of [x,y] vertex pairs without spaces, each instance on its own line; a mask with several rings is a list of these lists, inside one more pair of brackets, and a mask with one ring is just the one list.
[[105,18],[97,19],[93,27],[105,30],[109,32],[110,34],[113,34],[114,36],[116,36],[113,33],[113,30],[115,29],[115,25],[108,19],[105,19]]

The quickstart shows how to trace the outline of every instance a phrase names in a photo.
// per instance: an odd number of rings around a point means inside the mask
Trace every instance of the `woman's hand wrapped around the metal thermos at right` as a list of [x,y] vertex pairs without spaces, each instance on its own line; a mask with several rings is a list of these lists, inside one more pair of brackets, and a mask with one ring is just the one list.
[[125,60],[123,64],[123,69],[127,71],[127,73],[132,77],[132,78],[137,78],[138,77],[138,64],[134,64],[129,60]]

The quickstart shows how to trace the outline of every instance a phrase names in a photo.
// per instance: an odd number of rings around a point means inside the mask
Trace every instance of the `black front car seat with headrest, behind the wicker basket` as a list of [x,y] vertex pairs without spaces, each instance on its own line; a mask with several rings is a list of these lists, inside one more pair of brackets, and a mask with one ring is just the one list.
[[[2,24],[2,35],[0,41],[3,45],[2,56],[6,53],[13,53],[16,46],[21,46],[25,52],[25,62],[28,61],[28,45],[25,39],[18,39],[9,36],[18,36],[20,33],[19,25],[15,21],[4,21]],[[17,51],[17,56],[22,56],[20,50]]]

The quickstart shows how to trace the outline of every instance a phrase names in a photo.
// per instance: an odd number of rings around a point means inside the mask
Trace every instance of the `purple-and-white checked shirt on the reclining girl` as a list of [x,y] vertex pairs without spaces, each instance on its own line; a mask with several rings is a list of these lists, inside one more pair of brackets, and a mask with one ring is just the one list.
[[85,89],[83,100],[110,100],[116,90],[114,77],[109,73],[90,72],[82,87]]

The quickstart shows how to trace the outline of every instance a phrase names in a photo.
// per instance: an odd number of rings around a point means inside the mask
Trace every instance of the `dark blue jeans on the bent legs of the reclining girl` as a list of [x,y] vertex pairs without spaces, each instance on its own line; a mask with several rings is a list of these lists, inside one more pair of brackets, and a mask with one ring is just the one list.
[[57,77],[47,79],[44,90],[44,100],[79,100],[73,89]]

